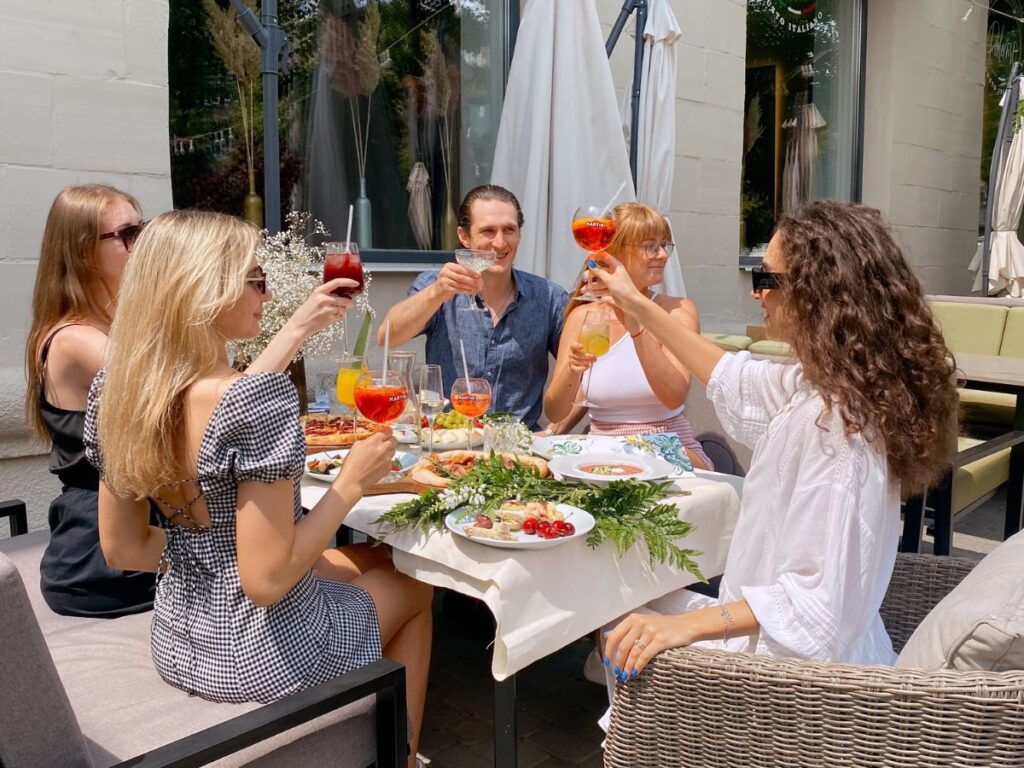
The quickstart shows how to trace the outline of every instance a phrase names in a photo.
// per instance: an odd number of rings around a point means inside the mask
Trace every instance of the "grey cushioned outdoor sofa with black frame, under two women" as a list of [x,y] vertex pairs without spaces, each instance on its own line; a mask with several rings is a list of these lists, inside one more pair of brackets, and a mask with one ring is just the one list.
[[404,765],[404,669],[381,659],[269,705],[214,703],[168,685],[150,650],[152,612],[61,616],[39,589],[48,531],[5,504],[0,541],[0,765]]

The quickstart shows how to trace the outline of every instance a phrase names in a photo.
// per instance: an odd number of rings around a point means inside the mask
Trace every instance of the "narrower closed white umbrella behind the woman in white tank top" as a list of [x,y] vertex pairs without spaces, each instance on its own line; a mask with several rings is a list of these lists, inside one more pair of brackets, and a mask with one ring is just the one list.
[[[682,36],[669,0],[649,0],[637,125],[637,200],[666,215],[672,206],[672,176],[676,166],[676,42]],[[632,129],[632,88],[627,87],[620,110],[627,147]],[[670,259],[666,265],[663,285],[666,293],[686,295],[678,258]]]

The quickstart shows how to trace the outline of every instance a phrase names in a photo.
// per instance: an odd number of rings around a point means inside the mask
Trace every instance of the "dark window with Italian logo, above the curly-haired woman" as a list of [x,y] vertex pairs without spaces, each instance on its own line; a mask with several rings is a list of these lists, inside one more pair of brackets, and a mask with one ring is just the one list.
[[850,200],[859,50],[856,0],[749,0],[740,247],[763,248],[779,216]]

